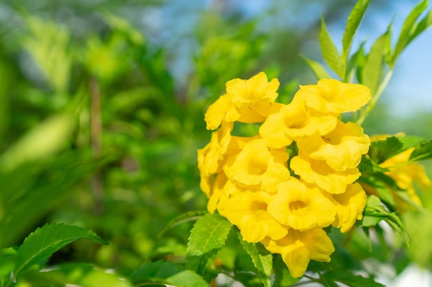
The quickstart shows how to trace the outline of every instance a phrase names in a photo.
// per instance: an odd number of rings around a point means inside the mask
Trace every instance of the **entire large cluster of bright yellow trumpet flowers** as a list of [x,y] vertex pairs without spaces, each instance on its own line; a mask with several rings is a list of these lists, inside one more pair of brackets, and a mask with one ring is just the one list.
[[[369,136],[342,113],[371,98],[363,85],[323,79],[300,86],[288,105],[276,103],[279,81],[264,72],[226,83],[208,107],[198,150],[200,186],[208,211],[235,224],[247,242],[282,255],[293,277],[311,259],[329,262],[333,243],[323,228],[349,231],[362,218],[366,193],[356,182]],[[235,136],[234,124],[260,124],[255,136]]]

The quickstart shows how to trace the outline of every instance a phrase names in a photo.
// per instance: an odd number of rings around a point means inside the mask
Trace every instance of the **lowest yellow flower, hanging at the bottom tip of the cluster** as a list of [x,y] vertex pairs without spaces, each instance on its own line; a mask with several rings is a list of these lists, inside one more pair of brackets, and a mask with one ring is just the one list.
[[330,255],[335,248],[322,228],[308,231],[290,229],[281,240],[266,237],[262,244],[271,253],[282,255],[291,276],[302,277],[308,268],[309,261],[330,262]]

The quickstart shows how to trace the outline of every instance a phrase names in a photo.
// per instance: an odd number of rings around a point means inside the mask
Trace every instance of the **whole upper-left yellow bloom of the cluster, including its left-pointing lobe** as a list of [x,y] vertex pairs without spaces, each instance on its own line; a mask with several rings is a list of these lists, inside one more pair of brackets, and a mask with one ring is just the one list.
[[248,80],[236,78],[226,83],[226,94],[208,107],[204,120],[207,129],[217,129],[222,120],[226,122],[262,123],[268,114],[279,108],[277,98],[279,81],[268,83],[264,72]]

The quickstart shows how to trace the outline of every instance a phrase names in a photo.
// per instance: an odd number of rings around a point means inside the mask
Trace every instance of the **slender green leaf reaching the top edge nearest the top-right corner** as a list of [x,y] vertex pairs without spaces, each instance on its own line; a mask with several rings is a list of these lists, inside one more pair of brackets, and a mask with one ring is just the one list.
[[[396,59],[400,55],[402,50],[404,50],[406,45],[408,45],[409,42],[413,40],[411,36],[415,34],[416,28],[418,26],[415,25],[415,21],[417,21],[420,14],[422,14],[422,12],[427,8],[428,5],[429,5],[429,0],[421,1],[420,3],[417,4],[417,6],[413,8],[413,10],[411,10],[408,17],[406,17],[404,25],[402,26],[402,30],[400,31],[399,39],[397,39],[395,52],[393,54],[393,59],[391,63],[389,63],[390,67],[393,67],[393,65],[395,65]],[[426,21],[430,21],[429,18]],[[418,32],[420,34],[420,31]]]

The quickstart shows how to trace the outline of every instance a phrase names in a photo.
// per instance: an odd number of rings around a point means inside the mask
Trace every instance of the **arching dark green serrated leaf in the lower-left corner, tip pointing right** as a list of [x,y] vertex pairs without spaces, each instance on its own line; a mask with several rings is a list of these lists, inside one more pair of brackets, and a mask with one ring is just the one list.
[[55,251],[80,238],[99,244],[108,244],[92,231],[79,226],[53,223],[37,228],[19,246],[14,276],[18,277],[25,273],[32,265],[50,257]]

